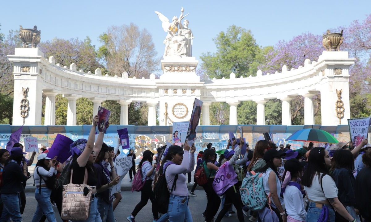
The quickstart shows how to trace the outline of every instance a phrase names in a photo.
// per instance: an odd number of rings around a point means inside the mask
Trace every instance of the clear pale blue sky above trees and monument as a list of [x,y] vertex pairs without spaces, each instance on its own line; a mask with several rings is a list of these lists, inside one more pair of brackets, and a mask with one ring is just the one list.
[[[1,3],[1,32],[6,34],[19,25],[37,25],[41,40],[89,36],[98,48],[98,36],[112,25],[135,23],[152,34],[162,55],[166,33],[154,11],[171,19],[179,16],[181,6],[194,33],[193,55],[216,50],[212,39],[234,24],[250,29],[260,46],[290,40],[303,32],[323,34],[328,28],[364,20],[371,13],[371,1],[10,1]],[[56,4],[58,3],[58,4]],[[333,30],[337,31],[337,30]]]

